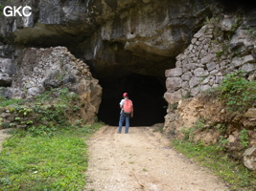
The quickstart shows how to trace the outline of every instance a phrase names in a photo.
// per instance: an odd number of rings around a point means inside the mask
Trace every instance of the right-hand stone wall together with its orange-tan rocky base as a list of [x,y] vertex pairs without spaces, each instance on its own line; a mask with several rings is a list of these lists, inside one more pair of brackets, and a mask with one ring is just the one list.
[[[214,97],[203,100],[200,93],[219,86],[226,74],[237,71],[244,71],[248,80],[255,79],[255,24],[252,17],[222,15],[220,20],[211,19],[194,35],[189,47],[176,56],[175,68],[166,71],[164,95],[169,103],[164,125],[167,134],[182,138],[182,132],[191,128],[195,131],[192,139],[206,145],[220,144],[220,138],[225,138],[229,155],[242,159],[251,170],[256,170],[255,108],[244,115],[230,114],[220,101]],[[185,99],[187,96],[192,97]],[[247,132],[247,147],[241,144],[243,130]]]

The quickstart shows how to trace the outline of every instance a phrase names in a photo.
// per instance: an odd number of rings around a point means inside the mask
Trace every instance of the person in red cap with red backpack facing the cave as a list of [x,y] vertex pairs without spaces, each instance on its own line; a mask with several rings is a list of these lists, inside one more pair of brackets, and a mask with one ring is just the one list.
[[125,134],[128,134],[129,117],[133,117],[133,105],[132,105],[132,101],[128,99],[128,93],[124,93],[123,97],[124,98],[120,101],[120,104],[119,104],[121,108],[121,113],[120,113],[119,128],[117,133],[121,134],[124,120],[126,120]]

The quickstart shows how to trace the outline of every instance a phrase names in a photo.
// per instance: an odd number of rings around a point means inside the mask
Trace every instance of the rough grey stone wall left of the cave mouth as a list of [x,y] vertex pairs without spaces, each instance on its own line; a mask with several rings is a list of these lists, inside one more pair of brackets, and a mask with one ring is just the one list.
[[12,77],[12,86],[2,95],[26,98],[53,88],[67,87],[81,96],[81,118],[91,121],[98,113],[102,88],[88,66],[65,47],[28,48],[21,52]]

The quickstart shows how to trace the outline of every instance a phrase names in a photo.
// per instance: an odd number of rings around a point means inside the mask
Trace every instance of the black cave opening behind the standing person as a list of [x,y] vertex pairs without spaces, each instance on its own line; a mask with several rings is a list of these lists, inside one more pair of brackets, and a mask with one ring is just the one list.
[[142,74],[105,77],[99,80],[103,87],[102,103],[98,118],[107,125],[118,126],[119,103],[127,92],[134,105],[130,126],[151,126],[163,123],[167,102],[163,98],[165,79]]

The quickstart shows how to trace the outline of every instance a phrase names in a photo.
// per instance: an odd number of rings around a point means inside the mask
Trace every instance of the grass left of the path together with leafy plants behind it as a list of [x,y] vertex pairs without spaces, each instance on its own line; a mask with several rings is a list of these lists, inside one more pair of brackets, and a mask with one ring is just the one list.
[[[55,89],[34,100],[2,100],[16,129],[0,153],[0,190],[83,190],[86,143],[103,124],[79,118],[81,99],[68,89]],[[1,121],[0,121],[1,122]]]

